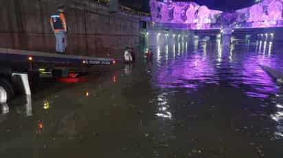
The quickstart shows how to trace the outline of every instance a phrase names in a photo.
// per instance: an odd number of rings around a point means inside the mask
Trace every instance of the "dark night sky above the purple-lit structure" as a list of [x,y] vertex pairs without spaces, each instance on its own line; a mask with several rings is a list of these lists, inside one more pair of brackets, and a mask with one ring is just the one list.
[[[120,0],[122,5],[134,8],[135,10],[149,12],[149,0]],[[182,1],[182,0],[176,0]],[[188,1],[188,0],[183,0]],[[255,0],[192,0],[199,5],[207,5],[212,10],[231,11],[253,5]]]

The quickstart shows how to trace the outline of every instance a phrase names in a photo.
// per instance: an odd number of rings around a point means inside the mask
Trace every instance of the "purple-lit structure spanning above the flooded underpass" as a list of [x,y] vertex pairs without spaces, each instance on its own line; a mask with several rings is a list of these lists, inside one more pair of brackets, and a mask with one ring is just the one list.
[[188,29],[283,27],[283,0],[263,0],[233,12],[210,10],[194,2],[150,0],[152,22],[187,25]]

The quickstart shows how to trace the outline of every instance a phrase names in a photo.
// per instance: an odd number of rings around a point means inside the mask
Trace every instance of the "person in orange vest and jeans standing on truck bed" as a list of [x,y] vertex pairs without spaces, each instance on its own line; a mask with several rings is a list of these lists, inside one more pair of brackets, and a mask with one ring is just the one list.
[[59,5],[56,14],[50,18],[50,25],[56,38],[56,53],[65,53],[67,47],[67,25],[65,6]]

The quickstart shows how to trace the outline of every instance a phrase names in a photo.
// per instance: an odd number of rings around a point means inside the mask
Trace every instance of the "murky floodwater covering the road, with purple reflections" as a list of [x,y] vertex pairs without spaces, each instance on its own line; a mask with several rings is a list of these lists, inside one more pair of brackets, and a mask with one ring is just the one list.
[[1,157],[282,157],[282,88],[260,68],[283,69],[282,43],[150,47],[152,62],[1,105]]

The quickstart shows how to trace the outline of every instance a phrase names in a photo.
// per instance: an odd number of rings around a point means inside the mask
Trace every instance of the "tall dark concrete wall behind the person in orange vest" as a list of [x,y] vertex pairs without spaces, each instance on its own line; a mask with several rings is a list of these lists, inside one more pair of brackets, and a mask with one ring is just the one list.
[[[60,1],[61,3],[62,1]],[[57,0],[0,0],[0,48],[55,52],[49,17]],[[67,54],[117,57],[139,44],[140,16],[116,12],[92,0],[68,0]]]

